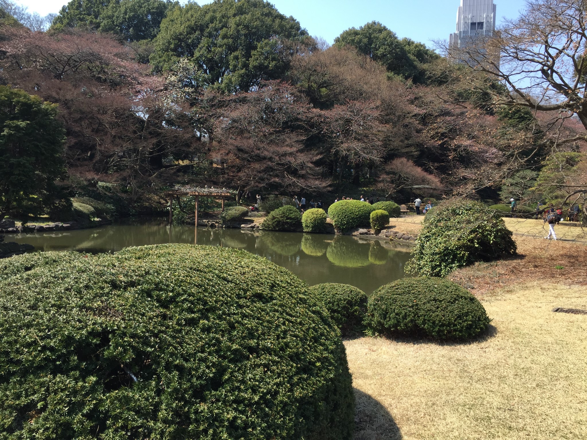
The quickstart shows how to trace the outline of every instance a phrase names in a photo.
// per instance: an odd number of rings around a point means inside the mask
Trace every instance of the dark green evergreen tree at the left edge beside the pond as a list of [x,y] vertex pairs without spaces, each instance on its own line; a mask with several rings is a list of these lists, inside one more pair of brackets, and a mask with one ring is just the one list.
[[0,86],[0,220],[42,204],[65,174],[65,131],[57,105]]

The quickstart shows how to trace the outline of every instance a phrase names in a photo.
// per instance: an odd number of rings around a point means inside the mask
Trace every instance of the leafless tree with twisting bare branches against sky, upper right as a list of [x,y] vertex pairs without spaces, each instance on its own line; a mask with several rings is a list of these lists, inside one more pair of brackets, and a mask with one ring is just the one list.
[[[586,0],[528,0],[527,10],[493,36],[444,49],[504,83],[507,90],[495,95],[495,104],[551,112],[559,123],[576,115],[587,128],[586,8]],[[587,140],[587,133],[556,142],[578,140]]]

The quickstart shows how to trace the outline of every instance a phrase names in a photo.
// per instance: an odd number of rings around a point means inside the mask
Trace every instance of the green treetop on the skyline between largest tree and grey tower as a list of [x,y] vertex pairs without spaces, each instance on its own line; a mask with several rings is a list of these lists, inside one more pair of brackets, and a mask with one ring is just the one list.
[[335,39],[335,44],[353,46],[360,53],[382,63],[388,72],[411,79],[414,83],[424,83],[426,72],[423,65],[440,57],[422,43],[409,38],[400,40],[396,33],[376,21],[359,29],[347,29]]

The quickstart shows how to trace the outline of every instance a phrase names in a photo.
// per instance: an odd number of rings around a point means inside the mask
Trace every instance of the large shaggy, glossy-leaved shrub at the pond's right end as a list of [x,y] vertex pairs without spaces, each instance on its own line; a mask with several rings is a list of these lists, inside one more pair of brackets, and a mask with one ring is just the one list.
[[478,202],[447,201],[426,215],[408,273],[445,276],[478,261],[516,254],[512,232],[500,214]]

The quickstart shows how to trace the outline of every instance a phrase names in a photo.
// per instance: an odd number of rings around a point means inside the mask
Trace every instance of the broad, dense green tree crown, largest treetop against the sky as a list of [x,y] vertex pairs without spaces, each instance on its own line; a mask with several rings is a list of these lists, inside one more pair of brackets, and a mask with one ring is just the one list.
[[161,22],[151,63],[168,70],[185,57],[201,72],[201,85],[248,92],[285,73],[292,50],[285,40],[305,38],[298,21],[264,0],[190,2]]

